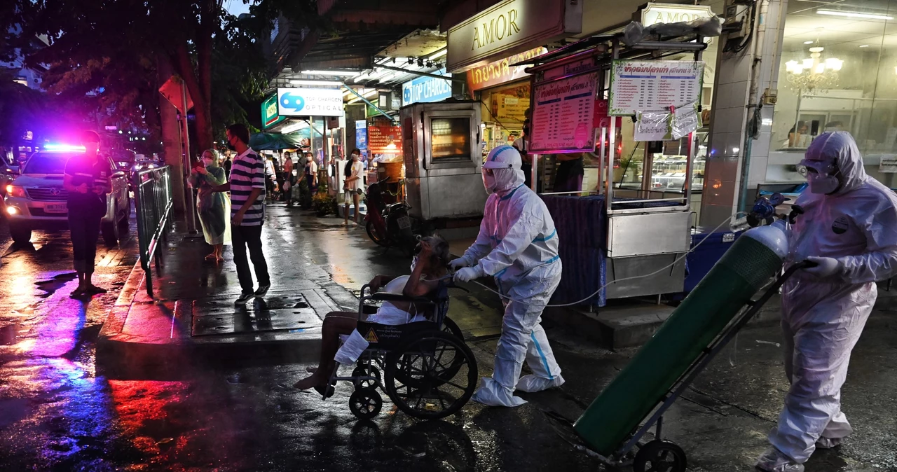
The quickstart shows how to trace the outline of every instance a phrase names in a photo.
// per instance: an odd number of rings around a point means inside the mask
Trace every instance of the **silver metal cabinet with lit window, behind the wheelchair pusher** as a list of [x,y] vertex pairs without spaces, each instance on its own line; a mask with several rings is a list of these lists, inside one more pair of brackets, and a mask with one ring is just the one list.
[[411,216],[448,238],[475,236],[487,196],[480,103],[415,103],[401,108],[400,119]]

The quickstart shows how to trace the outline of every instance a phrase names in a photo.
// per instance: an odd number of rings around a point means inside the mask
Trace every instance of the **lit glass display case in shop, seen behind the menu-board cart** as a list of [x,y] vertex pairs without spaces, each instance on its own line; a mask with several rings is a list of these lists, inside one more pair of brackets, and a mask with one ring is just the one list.
[[[692,168],[692,193],[704,187],[704,165],[707,161],[708,128],[694,133],[694,167]],[[688,138],[663,142],[661,152],[652,153],[651,187],[662,192],[683,192],[688,156]]]

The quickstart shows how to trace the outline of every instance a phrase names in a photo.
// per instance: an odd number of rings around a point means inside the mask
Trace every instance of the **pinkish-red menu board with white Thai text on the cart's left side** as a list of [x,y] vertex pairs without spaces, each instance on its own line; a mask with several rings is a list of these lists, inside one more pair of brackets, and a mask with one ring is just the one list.
[[595,149],[598,74],[536,85],[530,149],[534,153]]

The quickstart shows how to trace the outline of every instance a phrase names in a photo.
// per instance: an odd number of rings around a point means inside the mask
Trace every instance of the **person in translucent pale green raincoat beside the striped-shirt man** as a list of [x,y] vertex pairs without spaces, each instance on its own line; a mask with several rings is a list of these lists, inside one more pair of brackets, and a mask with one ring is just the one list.
[[205,242],[212,245],[212,253],[205,256],[206,261],[223,262],[224,245],[231,244],[231,202],[227,196],[214,191],[215,185],[224,185],[227,177],[224,169],[218,166],[218,151],[205,150],[203,165],[194,167],[190,173],[190,185],[197,189],[196,213],[203,227]]

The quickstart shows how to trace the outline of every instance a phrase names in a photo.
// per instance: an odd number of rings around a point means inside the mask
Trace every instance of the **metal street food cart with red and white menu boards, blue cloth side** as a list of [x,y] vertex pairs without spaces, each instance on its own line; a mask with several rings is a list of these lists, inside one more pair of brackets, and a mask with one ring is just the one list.
[[[700,116],[701,51],[706,44],[697,33],[629,43],[624,44],[623,33],[594,36],[539,56],[527,68],[534,96],[532,182],[537,181],[538,159],[546,154],[584,152],[600,162],[594,188],[543,193],[561,237],[563,275],[553,303],[582,300],[605,284],[588,298],[589,305],[603,306],[608,298],[681,292],[684,287],[684,254],[690,249],[693,219],[694,131],[675,138],[686,143],[680,151],[684,162],[677,163],[684,170],[682,193],[657,188],[657,178],[649,171],[649,146],[640,185],[623,188],[614,183],[613,171],[619,164],[621,119],[637,117],[642,128],[649,128],[647,112],[675,114],[684,106]],[[664,60],[683,54],[690,60]],[[650,131],[642,133],[650,136]],[[674,139],[664,134],[641,141]]]

